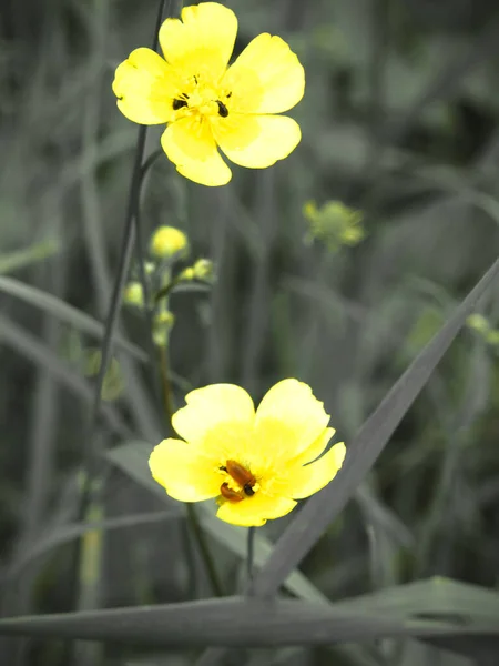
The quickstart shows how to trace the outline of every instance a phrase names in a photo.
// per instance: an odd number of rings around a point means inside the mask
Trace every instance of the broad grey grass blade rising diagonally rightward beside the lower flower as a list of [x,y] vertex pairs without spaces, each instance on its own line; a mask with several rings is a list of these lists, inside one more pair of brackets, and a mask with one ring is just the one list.
[[499,260],[487,271],[437,335],[427,344],[369,416],[347,447],[338,477],[310,498],[278,539],[263,569],[249,587],[257,596],[272,596],[318,541],[375,464],[397,425],[431,376],[477,301],[495,281]]

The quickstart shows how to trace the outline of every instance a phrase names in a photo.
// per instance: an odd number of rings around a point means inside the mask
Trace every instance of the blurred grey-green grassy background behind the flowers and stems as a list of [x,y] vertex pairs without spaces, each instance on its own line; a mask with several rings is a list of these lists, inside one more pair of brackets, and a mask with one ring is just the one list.
[[[261,32],[306,70],[294,153],[234,167],[207,189],[159,157],[142,189],[142,242],[182,230],[180,271],[213,264],[167,303],[174,400],[234,382],[313,386],[352,440],[498,254],[496,0],[228,0],[236,54]],[[115,67],[151,43],[156,3],[0,6],[0,566],[4,616],[179,602],[212,594],[174,502],[102,461],[100,502],[78,519],[79,471],[116,272],[136,125]],[[146,154],[159,148],[151,128]],[[152,266],[152,264],[151,264]],[[151,268],[150,266],[150,268]],[[151,268],[153,270],[153,268]],[[164,264],[159,269],[165,270]],[[130,281],[136,280],[132,260]],[[131,293],[131,292],[130,292]],[[147,324],[125,299],[95,445],[164,436]],[[491,290],[386,447],[303,562],[340,599],[439,575],[498,586],[499,299]],[[123,343],[123,339],[125,342]],[[128,342],[126,342],[128,341]],[[146,443],[146,444],[144,444]],[[261,528],[271,542],[288,519]],[[74,544],[84,534],[79,597]],[[244,563],[213,535],[227,593]],[[194,592],[193,592],[194,589]],[[86,592],[86,594],[85,594]],[[2,640],[10,664],[65,664],[58,640]],[[189,650],[86,645],[93,664],[183,665]],[[374,648],[373,648],[374,649]],[[432,664],[408,642],[393,664]],[[375,650],[376,652],[376,650]],[[256,664],[387,664],[373,650],[258,652]],[[438,656],[438,664],[466,666]],[[448,660],[445,660],[447,658]],[[369,660],[371,659],[371,660]]]

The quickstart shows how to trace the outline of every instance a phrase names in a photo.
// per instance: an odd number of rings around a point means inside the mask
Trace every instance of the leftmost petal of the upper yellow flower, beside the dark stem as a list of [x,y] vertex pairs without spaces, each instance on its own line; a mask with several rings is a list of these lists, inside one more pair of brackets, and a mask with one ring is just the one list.
[[114,74],[118,108],[129,120],[159,124],[173,118],[179,89],[166,62],[151,49],[135,49]]

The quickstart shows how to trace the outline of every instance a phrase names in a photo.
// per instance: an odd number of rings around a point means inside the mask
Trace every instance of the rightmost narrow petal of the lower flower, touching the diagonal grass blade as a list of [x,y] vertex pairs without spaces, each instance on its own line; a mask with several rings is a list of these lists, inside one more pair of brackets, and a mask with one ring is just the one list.
[[335,444],[323,457],[315,463],[297,467],[288,476],[288,485],[285,488],[279,484],[279,492],[288,494],[295,500],[309,497],[320,488],[324,488],[336,476],[345,458],[345,444]]

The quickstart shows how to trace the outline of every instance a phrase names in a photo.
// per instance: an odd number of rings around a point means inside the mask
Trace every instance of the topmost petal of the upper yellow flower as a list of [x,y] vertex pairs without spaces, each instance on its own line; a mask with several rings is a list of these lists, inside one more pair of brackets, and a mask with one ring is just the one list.
[[235,13],[217,2],[192,4],[180,19],[166,19],[160,44],[170,64],[187,77],[206,74],[217,81],[224,73],[237,34]]

